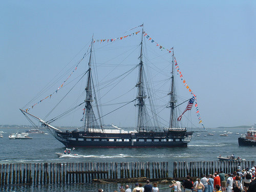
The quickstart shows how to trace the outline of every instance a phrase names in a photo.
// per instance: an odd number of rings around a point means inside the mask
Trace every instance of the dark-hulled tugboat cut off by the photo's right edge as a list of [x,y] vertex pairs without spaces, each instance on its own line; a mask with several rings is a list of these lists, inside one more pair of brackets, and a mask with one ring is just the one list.
[[247,130],[244,136],[238,138],[238,144],[240,146],[256,146],[256,123],[254,126]]

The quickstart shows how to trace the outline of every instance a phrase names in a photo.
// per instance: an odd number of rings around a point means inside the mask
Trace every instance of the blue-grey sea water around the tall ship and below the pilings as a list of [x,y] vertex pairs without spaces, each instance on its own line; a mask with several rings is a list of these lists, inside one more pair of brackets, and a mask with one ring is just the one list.
[[[245,158],[248,161],[256,160],[256,146],[239,146],[238,137],[245,134],[247,129],[208,129],[207,133],[195,133],[191,142],[186,148],[76,148],[74,153],[86,155],[84,158],[58,158],[56,152],[65,150],[65,146],[57,141],[52,135],[31,134],[33,139],[18,140],[9,139],[11,133],[25,132],[26,129],[0,129],[4,131],[4,138],[0,139],[2,146],[0,163],[43,163],[43,162],[163,162],[167,161],[169,167],[174,161],[216,161],[217,156],[234,154],[237,157]],[[227,137],[220,134],[232,132]],[[240,135],[237,135],[239,133]],[[207,136],[204,136],[207,135]],[[0,187],[1,191],[97,191],[103,188],[104,191],[119,191],[123,184],[65,184],[65,185],[7,185]],[[134,184],[131,183],[131,188]],[[159,187],[166,187],[161,184]],[[161,191],[169,191],[163,189]]]

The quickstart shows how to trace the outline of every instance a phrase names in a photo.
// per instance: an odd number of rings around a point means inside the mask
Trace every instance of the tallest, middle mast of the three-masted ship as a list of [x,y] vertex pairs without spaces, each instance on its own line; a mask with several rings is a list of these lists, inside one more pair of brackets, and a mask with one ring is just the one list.
[[137,121],[137,129],[141,131],[144,128],[144,118],[143,118],[143,110],[144,110],[144,98],[146,98],[144,87],[143,87],[143,61],[142,61],[142,40],[143,40],[143,29],[141,33],[141,42],[140,42],[140,63],[139,63],[139,77],[136,87],[138,87],[138,95],[137,100],[138,103],[138,121]]

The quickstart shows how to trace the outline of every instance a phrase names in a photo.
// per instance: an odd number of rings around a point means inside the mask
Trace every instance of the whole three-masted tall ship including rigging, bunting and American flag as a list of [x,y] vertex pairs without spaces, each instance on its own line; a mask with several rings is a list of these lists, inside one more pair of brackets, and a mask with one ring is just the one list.
[[[97,90],[95,86],[94,77],[97,76],[97,74],[94,73],[95,70],[93,69],[95,69],[95,66],[93,66],[92,62],[92,59],[94,58],[93,55],[95,54],[94,43],[98,40],[92,38],[88,49],[89,58],[87,71],[82,75],[86,77],[86,85],[84,86],[85,96],[83,101],[74,106],[74,108],[71,108],[67,112],[53,117],[50,120],[41,119],[35,115],[32,115],[28,109],[20,109],[20,111],[28,119],[33,117],[39,121],[42,126],[45,126],[46,129],[66,147],[187,147],[193,136],[193,131],[188,131],[187,127],[181,126],[181,117],[186,111],[191,110],[192,106],[195,104],[196,96],[195,94],[190,93],[188,98],[183,100],[183,102],[178,103],[175,81],[175,75],[177,73],[177,62],[172,48],[172,53],[169,54],[170,60],[168,62],[170,69],[168,72],[168,74],[170,74],[168,77],[169,90],[166,90],[165,96],[169,99],[168,101],[166,100],[166,105],[164,106],[164,108],[168,110],[166,113],[169,113],[169,122],[166,127],[159,125],[159,119],[162,118],[157,114],[155,110],[156,105],[154,105],[153,101],[151,100],[155,93],[152,93],[152,90],[148,89],[150,83],[148,83],[147,80],[152,80],[153,78],[147,76],[148,73],[145,72],[144,64],[144,41],[145,38],[148,38],[148,35],[145,36],[145,31],[143,31],[143,29],[141,30],[138,63],[134,65],[134,69],[137,69],[138,74],[137,82],[134,85],[134,88],[137,89],[137,94],[134,98],[132,98],[132,100],[124,104],[122,103],[122,106],[117,109],[113,109],[113,111],[106,113],[105,115],[101,115],[102,112],[100,112],[100,101],[102,98],[97,98],[100,89]],[[107,86],[108,85],[109,84],[107,84]],[[118,93],[115,93],[112,96],[115,97],[116,94]],[[103,126],[103,117],[117,110],[118,113],[122,113],[124,111],[122,111],[121,108],[131,103],[134,103],[135,109],[137,108],[136,112],[134,112],[134,114],[137,116],[137,125],[135,130],[125,130],[113,124],[111,126]],[[187,104],[185,111],[178,111],[178,106],[183,103]],[[73,131],[69,131],[62,130],[52,125],[55,120],[68,113],[72,113],[72,111],[76,108],[83,108],[82,119],[79,118],[83,124],[81,127]],[[183,108],[185,108],[184,105]],[[55,109],[55,107],[53,109]],[[97,113],[94,112],[95,110]]]

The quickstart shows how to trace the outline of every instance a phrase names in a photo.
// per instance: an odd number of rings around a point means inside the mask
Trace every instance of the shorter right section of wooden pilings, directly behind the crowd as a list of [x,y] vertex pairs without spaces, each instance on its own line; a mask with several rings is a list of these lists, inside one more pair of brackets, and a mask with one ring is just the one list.
[[202,177],[208,176],[223,170],[223,173],[233,173],[237,170],[238,165],[241,168],[253,167],[254,161],[191,161],[174,162],[173,177]]

